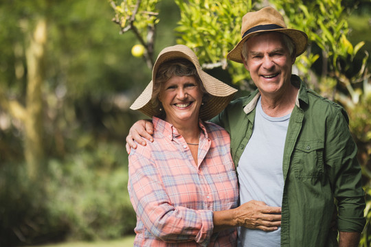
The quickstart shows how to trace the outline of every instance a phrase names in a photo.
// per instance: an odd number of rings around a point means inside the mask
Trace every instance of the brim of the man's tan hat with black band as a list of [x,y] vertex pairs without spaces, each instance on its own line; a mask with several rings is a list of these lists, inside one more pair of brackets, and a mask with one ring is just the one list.
[[282,34],[286,34],[293,40],[293,43],[295,44],[296,48],[296,56],[300,56],[304,53],[306,50],[306,47],[308,46],[308,36],[306,33],[300,31],[300,30],[294,30],[290,28],[280,28],[280,29],[273,29],[273,30],[260,30],[256,32],[251,32],[247,36],[243,37],[240,42],[232,49],[232,51],[229,51],[227,54],[227,59],[232,60],[234,62],[240,62],[243,63],[242,58],[242,50],[243,50],[243,44],[246,42],[248,38],[251,37],[252,34],[262,33],[262,32],[280,32]]

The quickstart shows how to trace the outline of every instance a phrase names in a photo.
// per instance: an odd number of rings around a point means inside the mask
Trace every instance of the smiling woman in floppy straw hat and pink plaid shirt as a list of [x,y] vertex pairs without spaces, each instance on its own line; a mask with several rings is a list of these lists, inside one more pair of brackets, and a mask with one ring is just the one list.
[[152,81],[131,106],[153,117],[155,129],[155,141],[128,157],[128,191],[137,213],[134,246],[236,245],[238,184],[229,134],[203,121],[220,113],[235,93],[202,71],[184,45],[157,57]]

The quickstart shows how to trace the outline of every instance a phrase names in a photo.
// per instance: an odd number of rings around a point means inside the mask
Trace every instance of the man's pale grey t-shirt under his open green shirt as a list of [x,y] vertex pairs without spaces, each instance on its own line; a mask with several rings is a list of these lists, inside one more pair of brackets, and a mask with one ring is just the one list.
[[[282,206],[284,188],[282,161],[290,116],[269,117],[256,105],[254,128],[238,163],[240,203],[258,200],[271,207]],[[240,227],[239,246],[280,246],[281,228],[273,232]]]

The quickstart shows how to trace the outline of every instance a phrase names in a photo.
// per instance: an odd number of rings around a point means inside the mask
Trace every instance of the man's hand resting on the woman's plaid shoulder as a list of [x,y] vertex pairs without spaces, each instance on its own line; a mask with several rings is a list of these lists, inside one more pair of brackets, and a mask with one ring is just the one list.
[[153,138],[153,124],[148,120],[136,121],[133,126],[131,126],[128,136],[126,137],[126,152],[130,154],[131,148],[137,148],[134,140],[140,145],[146,145],[146,140],[152,142]]

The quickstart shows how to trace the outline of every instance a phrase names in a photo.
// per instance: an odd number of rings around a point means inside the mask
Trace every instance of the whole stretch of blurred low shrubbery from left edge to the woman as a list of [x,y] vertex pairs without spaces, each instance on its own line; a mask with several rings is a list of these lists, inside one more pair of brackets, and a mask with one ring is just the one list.
[[132,234],[136,220],[127,166],[122,145],[104,142],[63,161],[50,160],[38,183],[28,180],[23,165],[2,165],[0,200],[7,203],[0,204],[1,246]]

